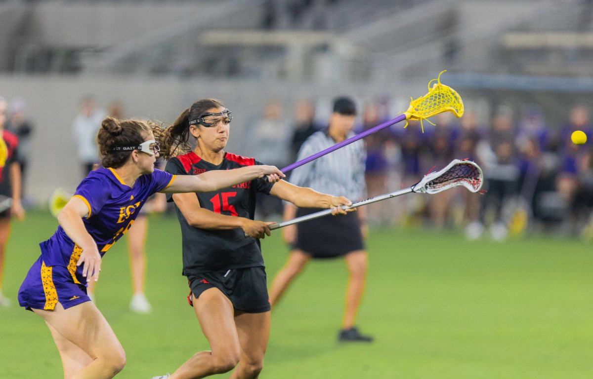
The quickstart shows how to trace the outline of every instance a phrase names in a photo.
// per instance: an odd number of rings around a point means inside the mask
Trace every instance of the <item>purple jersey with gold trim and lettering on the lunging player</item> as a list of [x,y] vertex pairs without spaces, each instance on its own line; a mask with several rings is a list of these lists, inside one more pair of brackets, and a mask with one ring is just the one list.
[[[155,169],[152,174],[141,175],[129,187],[111,168],[100,168],[88,174],[76,188],[74,197],[87,204],[88,215],[82,221],[97,243],[101,256],[130,229],[146,199],[167,188],[174,177]],[[82,249],[66,235],[62,226],[39,245],[46,266],[66,266],[75,282],[76,277],[81,279],[82,266],[76,272],[76,262]]]

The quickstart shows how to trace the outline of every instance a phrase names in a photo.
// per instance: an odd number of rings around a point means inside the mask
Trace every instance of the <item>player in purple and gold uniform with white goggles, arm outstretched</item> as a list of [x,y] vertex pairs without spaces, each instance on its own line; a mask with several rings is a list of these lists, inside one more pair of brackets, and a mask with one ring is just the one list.
[[154,169],[158,144],[151,125],[103,120],[101,165],[90,172],[58,216],[58,230],[40,243],[41,256],[18,292],[25,309],[43,317],[58,347],[65,378],[112,378],[126,362],[107,320],[89,301],[85,284],[97,281],[101,257],[132,226],[155,192],[210,192],[268,175],[273,166],[249,166],[203,175],[175,176]]

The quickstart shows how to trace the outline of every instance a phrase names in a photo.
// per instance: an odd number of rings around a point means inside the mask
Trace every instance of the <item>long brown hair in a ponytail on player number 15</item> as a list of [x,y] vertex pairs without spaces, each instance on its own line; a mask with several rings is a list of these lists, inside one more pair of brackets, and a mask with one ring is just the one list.
[[191,107],[187,108],[177,117],[173,124],[165,129],[154,131],[157,141],[161,144],[161,156],[164,159],[181,155],[192,150],[190,137],[194,138],[189,132],[189,121],[195,120],[200,114],[205,113],[212,108],[224,107],[222,101],[218,99],[205,98],[196,101]]

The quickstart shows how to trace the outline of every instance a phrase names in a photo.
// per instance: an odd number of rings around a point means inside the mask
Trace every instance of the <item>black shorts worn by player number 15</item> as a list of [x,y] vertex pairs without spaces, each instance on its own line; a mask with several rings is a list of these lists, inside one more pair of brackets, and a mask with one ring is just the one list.
[[[193,298],[199,298],[200,294],[209,288],[218,288],[237,310],[246,313],[270,310],[266,269],[263,266],[192,274],[187,275],[187,280]],[[188,297],[187,300],[192,305],[192,299]]]

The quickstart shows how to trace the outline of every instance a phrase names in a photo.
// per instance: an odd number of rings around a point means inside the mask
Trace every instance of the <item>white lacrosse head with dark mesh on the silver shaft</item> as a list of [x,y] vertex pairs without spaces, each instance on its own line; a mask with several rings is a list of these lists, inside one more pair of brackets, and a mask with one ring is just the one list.
[[426,174],[412,186],[413,192],[436,194],[463,185],[471,192],[480,191],[484,182],[482,169],[471,160],[454,159],[441,171]]

